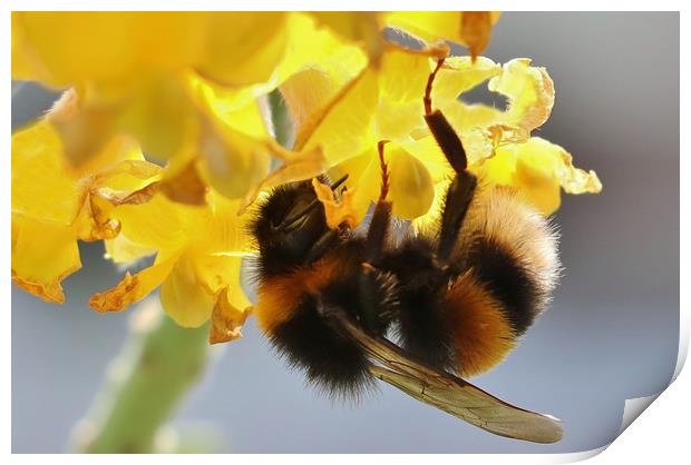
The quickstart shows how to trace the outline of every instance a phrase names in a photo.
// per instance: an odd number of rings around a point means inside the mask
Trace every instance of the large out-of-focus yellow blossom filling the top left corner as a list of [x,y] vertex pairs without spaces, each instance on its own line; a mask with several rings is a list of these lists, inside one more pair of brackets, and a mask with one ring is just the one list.
[[147,157],[171,160],[163,190],[187,204],[203,201],[206,184],[228,198],[254,191],[272,155],[323,171],[317,150],[276,147],[257,97],[312,62],[367,60],[310,16],[288,12],[13,13],[12,36],[14,78],[74,89],[51,119],[72,165],[132,135]]

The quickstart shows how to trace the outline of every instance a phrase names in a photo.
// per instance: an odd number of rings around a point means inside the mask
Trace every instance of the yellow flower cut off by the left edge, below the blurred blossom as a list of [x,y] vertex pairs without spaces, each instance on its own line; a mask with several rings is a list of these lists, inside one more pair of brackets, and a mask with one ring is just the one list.
[[60,138],[45,120],[12,136],[12,280],[62,303],[60,283],[81,267],[77,240],[117,236],[115,205],[136,204],[159,168],[127,138],[114,139],[87,171],[66,165]]

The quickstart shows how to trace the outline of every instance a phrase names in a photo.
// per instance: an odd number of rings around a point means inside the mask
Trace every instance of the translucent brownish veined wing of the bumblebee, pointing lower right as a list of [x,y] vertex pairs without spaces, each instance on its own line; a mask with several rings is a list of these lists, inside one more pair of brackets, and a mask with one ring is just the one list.
[[372,365],[370,372],[409,396],[499,436],[545,444],[562,438],[557,418],[507,404],[457,376],[411,360],[398,346],[369,337],[347,318],[341,323],[382,365]]

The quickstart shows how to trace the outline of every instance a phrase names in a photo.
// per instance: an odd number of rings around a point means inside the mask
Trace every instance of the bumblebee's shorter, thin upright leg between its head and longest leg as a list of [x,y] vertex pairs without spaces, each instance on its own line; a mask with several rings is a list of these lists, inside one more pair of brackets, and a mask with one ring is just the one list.
[[391,233],[391,202],[387,200],[389,194],[389,167],[383,158],[383,146],[387,140],[380,140],[377,145],[379,151],[379,166],[381,168],[381,190],[379,200],[374,206],[374,212],[367,233],[364,259],[376,264],[381,253],[387,248],[387,241]]

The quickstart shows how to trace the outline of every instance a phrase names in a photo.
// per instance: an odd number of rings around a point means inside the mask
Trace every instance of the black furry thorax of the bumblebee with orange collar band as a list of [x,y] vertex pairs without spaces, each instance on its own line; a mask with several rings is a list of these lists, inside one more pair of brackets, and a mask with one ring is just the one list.
[[[390,274],[362,273],[364,239],[349,238],[319,260],[260,281],[255,314],[260,327],[293,367],[333,397],[359,398],[373,385],[358,345],[322,314],[344,309],[370,335],[383,337],[398,313]],[[366,287],[367,286],[367,287]]]

